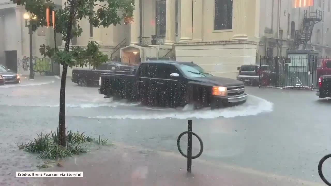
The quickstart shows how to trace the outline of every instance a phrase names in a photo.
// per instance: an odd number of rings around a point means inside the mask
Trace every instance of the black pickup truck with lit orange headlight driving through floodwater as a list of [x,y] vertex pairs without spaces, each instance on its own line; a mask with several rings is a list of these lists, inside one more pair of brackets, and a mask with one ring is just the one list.
[[244,103],[242,81],[213,76],[190,62],[146,61],[135,73],[101,73],[99,94],[149,106],[218,108]]

